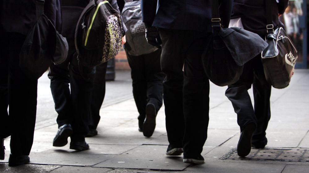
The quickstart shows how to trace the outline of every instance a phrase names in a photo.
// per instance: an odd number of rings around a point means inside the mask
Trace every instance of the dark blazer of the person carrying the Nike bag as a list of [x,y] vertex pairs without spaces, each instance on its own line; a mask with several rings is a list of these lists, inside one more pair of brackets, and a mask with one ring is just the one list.
[[[268,0],[267,0],[268,1]],[[273,25],[274,27],[283,26],[279,21],[278,15],[283,14],[288,6],[289,0],[272,1],[273,5]],[[261,37],[267,33],[267,16],[265,0],[234,0],[232,19],[241,18],[244,29],[254,32]]]

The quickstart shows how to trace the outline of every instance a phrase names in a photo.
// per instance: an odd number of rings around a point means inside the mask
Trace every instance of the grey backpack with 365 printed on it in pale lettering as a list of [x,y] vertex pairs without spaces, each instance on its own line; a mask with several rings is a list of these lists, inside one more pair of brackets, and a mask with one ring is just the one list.
[[140,1],[131,1],[124,4],[122,19],[127,27],[124,48],[130,55],[139,56],[149,54],[158,48],[147,43],[145,38],[145,25],[142,20]]

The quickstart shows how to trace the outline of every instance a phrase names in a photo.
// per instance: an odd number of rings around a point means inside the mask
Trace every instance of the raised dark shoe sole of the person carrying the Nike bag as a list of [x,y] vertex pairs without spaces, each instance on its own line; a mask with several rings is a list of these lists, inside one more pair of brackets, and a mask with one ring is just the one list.
[[255,130],[255,124],[248,124],[243,130],[243,135],[240,136],[237,144],[237,154],[240,157],[246,157],[251,151],[251,138]]

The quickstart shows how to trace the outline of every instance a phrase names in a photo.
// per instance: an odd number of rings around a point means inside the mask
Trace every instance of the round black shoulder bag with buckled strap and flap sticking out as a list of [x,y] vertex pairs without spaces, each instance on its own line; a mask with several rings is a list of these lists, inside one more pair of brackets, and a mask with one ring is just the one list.
[[238,27],[223,28],[218,0],[212,0],[212,35],[202,56],[202,65],[209,80],[218,85],[234,84],[243,65],[260,54],[267,43],[257,34]]

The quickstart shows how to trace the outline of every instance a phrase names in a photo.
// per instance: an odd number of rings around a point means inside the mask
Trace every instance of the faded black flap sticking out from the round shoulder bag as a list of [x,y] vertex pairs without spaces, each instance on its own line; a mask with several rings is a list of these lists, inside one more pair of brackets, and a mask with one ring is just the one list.
[[259,35],[238,27],[221,28],[219,36],[239,66],[259,55],[268,46]]

